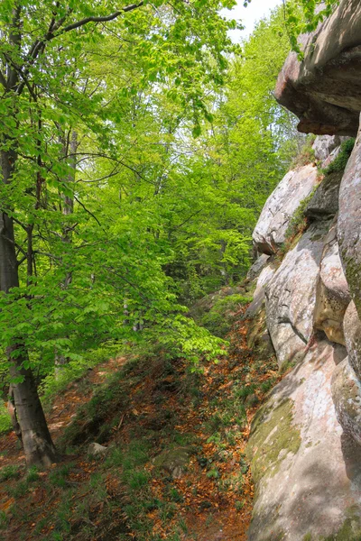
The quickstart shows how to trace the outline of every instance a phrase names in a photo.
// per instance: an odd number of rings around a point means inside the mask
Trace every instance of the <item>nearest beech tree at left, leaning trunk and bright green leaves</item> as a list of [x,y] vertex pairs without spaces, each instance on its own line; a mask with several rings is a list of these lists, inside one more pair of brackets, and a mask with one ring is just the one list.
[[[201,119],[208,115],[203,99],[204,84],[221,83],[227,65],[224,56],[230,47],[227,29],[235,23],[227,23],[218,12],[222,7],[232,7],[233,0],[122,4],[103,0],[80,3],[70,0],[65,4],[50,0],[5,0],[0,6],[2,345],[11,373],[18,432],[28,464],[47,466],[58,458],[28,354],[29,336],[33,331],[39,338],[40,332],[33,326],[33,314],[42,328],[57,309],[57,298],[51,296],[46,272],[44,280],[40,279],[40,267],[45,264],[45,258],[48,265],[57,269],[51,275],[52,288],[69,302],[74,291],[68,291],[64,279],[73,275],[74,268],[72,248],[64,248],[64,235],[69,239],[78,227],[76,214],[69,212],[71,201],[77,202],[84,215],[97,221],[97,216],[85,208],[69,182],[74,154],[79,156],[79,147],[74,152],[71,143],[74,133],[85,140],[83,148],[87,146],[86,130],[96,134],[103,151],[93,153],[118,165],[124,162],[114,141],[116,118],[114,112],[109,115],[106,79],[89,73],[89,59],[96,57],[106,38],[114,37],[117,49],[114,59],[124,61],[126,50],[129,59],[136,56],[141,66],[136,81],[139,87],[125,86],[124,96],[136,96],[140,88],[150,83],[162,85],[172,81],[174,99],[187,104],[191,111],[195,135],[199,133]],[[122,77],[119,64],[118,69]],[[116,114],[121,114],[119,108]],[[84,150],[87,152],[91,154],[92,149]],[[137,171],[134,174],[140,176]],[[48,240],[42,236],[44,228],[60,240],[58,252],[46,253]],[[35,241],[42,249],[38,246],[34,250]],[[109,252],[110,246],[107,257]],[[115,255],[121,256],[121,252]],[[108,265],[105,272],[109,273],[110,268]],[[93,287],[93,271],[88,272],[88,296]],[[97,271],[100,275],[101,261]],[[84,280],[84,273],[81,279]],[[77,300],[71,299],[72,307],[77,305]],[[81,310],[85,304],[79,302],[77,309]],[[23,314],[29,311],[32,311],[32,328],[23,319]],[[58,351],[67,343],[67,337],[43,342]]]

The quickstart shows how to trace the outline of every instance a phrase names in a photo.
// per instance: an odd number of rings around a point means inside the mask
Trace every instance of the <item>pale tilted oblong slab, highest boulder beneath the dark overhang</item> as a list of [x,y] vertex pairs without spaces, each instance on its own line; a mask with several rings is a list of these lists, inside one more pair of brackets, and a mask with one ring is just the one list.
[[255,226],[253,240],[258,252],[273,254],[284,243],[292,216],[317,183],[317,168],[312,164],[287,173],[268,197]]

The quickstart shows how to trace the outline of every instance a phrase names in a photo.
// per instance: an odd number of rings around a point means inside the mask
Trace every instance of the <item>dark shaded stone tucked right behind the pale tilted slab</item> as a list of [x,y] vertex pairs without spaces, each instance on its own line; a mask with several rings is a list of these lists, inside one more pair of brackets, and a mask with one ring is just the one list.
[[305,209],[305,215],[312,220],[333,218],[338,214],[338,193],[342,173],[335,172],[325,177],[316,188]]

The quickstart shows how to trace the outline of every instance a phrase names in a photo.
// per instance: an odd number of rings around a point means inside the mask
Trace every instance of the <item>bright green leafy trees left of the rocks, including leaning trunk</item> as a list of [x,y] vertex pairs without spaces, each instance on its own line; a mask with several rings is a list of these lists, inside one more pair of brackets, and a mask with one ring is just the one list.
[[222,352],[188,308],[245,275],[256,217],[297,147],[273,99],[283,12],[235,46],[236,22],[219,14],[233,5],[0,6],[2,372],[29,463],[56,454],[38,384],[87,352]]

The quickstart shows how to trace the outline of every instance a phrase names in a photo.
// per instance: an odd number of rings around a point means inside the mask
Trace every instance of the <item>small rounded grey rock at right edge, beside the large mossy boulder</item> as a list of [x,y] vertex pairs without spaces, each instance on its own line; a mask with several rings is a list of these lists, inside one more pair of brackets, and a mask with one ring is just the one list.
[[348,362],[341,362],[332,377],[332,398],[338,422],[361,445],[361,384]]

